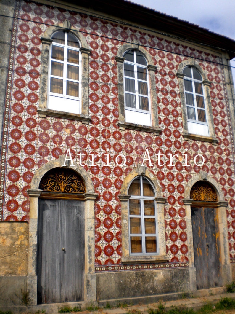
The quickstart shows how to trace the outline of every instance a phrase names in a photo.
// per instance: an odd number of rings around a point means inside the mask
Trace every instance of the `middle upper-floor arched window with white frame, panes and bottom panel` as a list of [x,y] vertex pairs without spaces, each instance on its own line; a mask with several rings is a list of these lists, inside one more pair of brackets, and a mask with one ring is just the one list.
[[125,121],[152,126],[147,62],[135,50],[124,53]]

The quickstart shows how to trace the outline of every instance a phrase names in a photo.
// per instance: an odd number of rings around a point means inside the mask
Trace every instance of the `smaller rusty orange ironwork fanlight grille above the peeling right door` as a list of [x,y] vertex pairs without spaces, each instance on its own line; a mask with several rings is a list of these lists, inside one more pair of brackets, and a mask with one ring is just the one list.
[[191,189],[190,198],[195,201],[217,201],[217,194],[214,188],[207,182],[197,182]]

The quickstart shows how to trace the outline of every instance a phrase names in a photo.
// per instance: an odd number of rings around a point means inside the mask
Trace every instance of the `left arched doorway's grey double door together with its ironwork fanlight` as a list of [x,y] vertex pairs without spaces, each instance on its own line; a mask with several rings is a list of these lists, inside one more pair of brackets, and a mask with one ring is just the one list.
[[54,168],[39,189],[38,303],[84,300],[84,182],[69,168]]

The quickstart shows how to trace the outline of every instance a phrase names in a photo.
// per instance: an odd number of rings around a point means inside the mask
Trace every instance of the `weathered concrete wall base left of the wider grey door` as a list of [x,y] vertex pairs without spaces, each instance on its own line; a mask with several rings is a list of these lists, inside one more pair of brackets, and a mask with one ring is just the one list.
[[0,308],[2,306],[22,306],[27,293],[26,276],[0,277]]

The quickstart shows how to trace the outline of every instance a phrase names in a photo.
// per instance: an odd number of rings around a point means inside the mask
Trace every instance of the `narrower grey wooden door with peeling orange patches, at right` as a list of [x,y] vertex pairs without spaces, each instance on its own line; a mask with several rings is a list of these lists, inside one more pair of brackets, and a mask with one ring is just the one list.
[[191,207],[197,289],[222,286],[216,208]]

